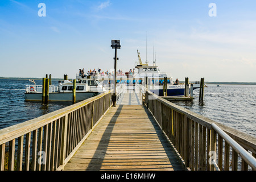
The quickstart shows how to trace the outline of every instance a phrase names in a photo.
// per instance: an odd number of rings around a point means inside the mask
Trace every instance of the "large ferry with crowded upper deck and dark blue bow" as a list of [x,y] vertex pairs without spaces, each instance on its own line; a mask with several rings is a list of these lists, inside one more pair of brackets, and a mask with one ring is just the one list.
[[[128,89],[133,89],[135,84],[146,84],[146,77],[148,78],[148,89],[152,93],[157,94],[158,96],[163,96],[163,84],[164,77],[167,77],[167,96],[184,96],[185,85],[184,84],[175,84],[172,77],[168,77],[166,73],[160,72],[160,69],[155,65],[143,64],[139,51],[138,59],[139,64],[135,62],[134,72],[130,70],[122,74],[117,73],[117,84],[126,84]],[[99,73],[94,73],[95,75],[90,75],[92,78],[96,78],[101,82],[104,87],[113,88],[114,83],[114,74],[111,75],[100,75]],[[79,73],[76,75],[77,78],[81,78]],[[193,83],[193,89],[200,88],[200,82]]]

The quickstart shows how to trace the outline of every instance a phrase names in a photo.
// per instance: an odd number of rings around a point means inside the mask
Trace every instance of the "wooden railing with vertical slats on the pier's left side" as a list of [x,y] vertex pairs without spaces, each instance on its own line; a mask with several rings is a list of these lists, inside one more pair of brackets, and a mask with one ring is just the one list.
[[0,130],[0,171],[62,170],[111,106],[111,93]]

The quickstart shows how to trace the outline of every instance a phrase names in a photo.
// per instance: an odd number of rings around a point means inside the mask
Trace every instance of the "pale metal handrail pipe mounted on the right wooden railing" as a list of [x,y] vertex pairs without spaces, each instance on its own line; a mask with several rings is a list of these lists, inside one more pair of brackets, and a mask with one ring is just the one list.
[[220,127],[218,127],[216,124],[212,123],[212,127],[219,135],[221,135],[222,138],[226,140],[226,142],[228,142],[230,146],[233,147],[237,154],[242,156],[243,160],[245,160],[245,162],[249,164],[251,168],[256,170],[256,159],[254,158],[254,156],[250,155],[249,152],[247,152],[243,147],[241,147],[240,144],[238,144],[234,139],[229,137],[229,135],[226,134],[223,130],[221,130]]

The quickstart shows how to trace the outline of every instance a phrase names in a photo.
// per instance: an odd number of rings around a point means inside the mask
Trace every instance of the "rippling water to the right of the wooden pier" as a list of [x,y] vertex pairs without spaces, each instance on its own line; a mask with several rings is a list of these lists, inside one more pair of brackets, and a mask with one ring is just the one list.
[[208,84],[203,102],[199,102],[199,89],[193,94],[193,102],[174,103],[256,137],[256,85]]

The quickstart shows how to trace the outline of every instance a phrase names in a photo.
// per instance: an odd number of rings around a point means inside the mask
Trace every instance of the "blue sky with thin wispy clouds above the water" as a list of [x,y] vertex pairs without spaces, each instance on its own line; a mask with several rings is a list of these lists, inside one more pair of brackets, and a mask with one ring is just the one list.
[[[45,17],[38,16],[39,3]],[[209,16],[210,3],[217,16]],[[256,82],[255,7],[252,0],[1,0],[0,76],[109,71],[111,40],[119,39],[122,71],[134,68],[139,49],[150,64],[156,53],[160,70],[174,79]]]

